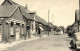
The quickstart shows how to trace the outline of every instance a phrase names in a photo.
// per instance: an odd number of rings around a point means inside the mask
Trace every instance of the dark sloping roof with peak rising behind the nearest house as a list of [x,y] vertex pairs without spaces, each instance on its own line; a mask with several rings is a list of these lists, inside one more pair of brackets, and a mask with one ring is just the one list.
[[[14,1],[12,1],[12,0],[5,0],[3,3],[2,3],[2,6],[3,5],[19,5],[18,3],[16,3],[16,2],[14,2]],[[20,7],[20,10],[21,10],[21,13],[22,13],[22,15],[24,15],[27,19],[31,19],[32,20],[32,18],[29,16],[29,14],[27,13],[27,11],[26,11],[26,9],[23,7],[23,6],[21,6],[21,5],[19,5],[19,7]]]

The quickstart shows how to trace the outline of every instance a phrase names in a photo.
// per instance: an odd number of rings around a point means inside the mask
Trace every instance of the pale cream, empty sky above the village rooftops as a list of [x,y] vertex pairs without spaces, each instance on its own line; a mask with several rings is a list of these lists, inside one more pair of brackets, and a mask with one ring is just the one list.
[[[4,0],[0,0],[0,4]],[[79,9],[79,0],[13,0],[31,11],[36,11],[36,14],[48,22],[57,26],[67,27],[75,20],[75,10]],[[52,16],[53,15],[53,16]]]

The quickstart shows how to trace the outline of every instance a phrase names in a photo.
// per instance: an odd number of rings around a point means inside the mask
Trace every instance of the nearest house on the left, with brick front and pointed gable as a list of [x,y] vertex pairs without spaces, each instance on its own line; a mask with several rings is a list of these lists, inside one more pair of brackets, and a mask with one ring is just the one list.
[[25,22],[19,6],[0,6],[0,42],[20,40],[25,32]]

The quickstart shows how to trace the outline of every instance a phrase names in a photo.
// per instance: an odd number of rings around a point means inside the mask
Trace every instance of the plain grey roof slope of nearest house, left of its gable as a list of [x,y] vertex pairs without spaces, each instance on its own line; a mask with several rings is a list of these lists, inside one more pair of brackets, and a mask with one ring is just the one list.
[[10,17],[17,8],[18,5],[0,6],[0,17]]

